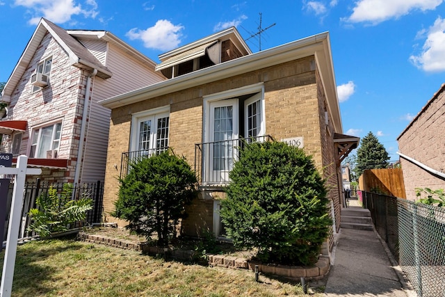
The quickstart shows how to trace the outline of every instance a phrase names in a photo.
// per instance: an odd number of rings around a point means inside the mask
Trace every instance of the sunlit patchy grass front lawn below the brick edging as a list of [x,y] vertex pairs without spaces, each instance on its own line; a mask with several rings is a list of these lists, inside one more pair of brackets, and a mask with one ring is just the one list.
[[[4,250],[2,267],[3,257]],[[18,246],[13,296],[304,295],[298,284],[264,275],[259,280],[252,271],[165,262],[72,238],[48,239]]]

